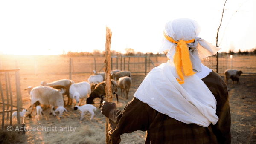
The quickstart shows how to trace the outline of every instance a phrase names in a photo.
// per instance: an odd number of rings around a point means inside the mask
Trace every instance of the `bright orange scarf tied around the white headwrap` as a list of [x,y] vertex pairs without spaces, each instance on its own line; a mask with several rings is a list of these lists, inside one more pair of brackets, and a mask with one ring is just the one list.
[[187,43],[192,43],[193,41],[195,41],[195,39],[188,40],[188,41],[179,40],[177,42],[177,41],[173,40],[171,37],[169,37],[168,35],[166,35],[166,33],[164,31],[163,31],[163,35],[170,42],[177,44],[177,50],[173,57],[173,62],[175,64],[177,73],[180,76],[181,80],[179,80],[178,78],[176,78],[176,79],[179,82],[179,84],[183,84],[184,83],[184,75],[181,71],[181,67],[183,67],[183,71],[186,76],[195,74],[195,72],[193,71],[193,68],[192,68],[192,63],[190,61],[190,57],[189,57],[189,49],[188,49],[188,46],[186,45]]

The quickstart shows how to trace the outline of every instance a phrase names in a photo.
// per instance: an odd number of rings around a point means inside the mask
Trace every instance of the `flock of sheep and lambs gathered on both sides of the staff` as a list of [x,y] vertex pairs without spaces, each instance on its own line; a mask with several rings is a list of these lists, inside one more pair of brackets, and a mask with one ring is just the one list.
[[[103,98],[105,97],[105,72],[92,72],[92,75],[88,78],[88,81],[75,83],[69,79],[61,79],[53,81],[51,83],[41,82],[41,86],[32,88],[28,86],[27,90],[31,98],[31,106],[28,110],[24,109],[20,112],[20,116],[24,118],[26,112],[31,118],[33,108],[36,107],[37,115],[35,118],[39,118],[42,115],[42,107],[47,105],[51,106],[50,114],[56,115],[55,112],[59,112],[59,118],[62,118],[63,112],[67,112],[65,107],[71,105],[74,110],[79,109],[81,111],[81,118],[84,118],[85,112],[90,112],[93,118],[96,107],[93,106],[93,100],[100,98],[100,106],[102,106]],[[118,101],[118,95],[116,94],[118,87],[122,93],[126,92],[126,99],[128,98],[129,89],[131,87],[131,72],[120,71],[118,69],[111,71],[111,88],[112,94],[116,95]],[[67,95],[67,103],[64,101],[64,95]],[[81,102],[86,98],[86,104],[80,106]],[[73,99],[76,100],[76,105],[73,104]],[[57,109],[54,109],[57,107]],[[13,113],[13,116],[17,115],[17,112]],[[24,119],[23,119],[24,121]]]

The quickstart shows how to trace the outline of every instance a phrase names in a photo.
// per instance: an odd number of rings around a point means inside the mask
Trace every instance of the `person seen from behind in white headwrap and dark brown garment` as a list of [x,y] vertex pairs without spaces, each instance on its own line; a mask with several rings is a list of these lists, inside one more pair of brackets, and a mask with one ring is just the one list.
[[183,18],[166,23],[159,53],[167,63],[148,73],[125,109],[103,102],[109,118],[108,136],[147,131],[145,144],[230,144],[230,107],[227,85],[201,64],[220,48],[198,37],[200,26]]

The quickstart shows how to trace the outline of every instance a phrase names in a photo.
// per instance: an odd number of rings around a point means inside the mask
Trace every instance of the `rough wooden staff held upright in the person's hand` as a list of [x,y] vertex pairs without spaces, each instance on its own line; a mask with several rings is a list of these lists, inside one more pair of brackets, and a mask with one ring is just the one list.
[[[105,76],[106,76],[106,101],[112,102],[112,92],[111,92],[111,77],[110,77],[110,43],[111,43],[112,32],[111,29],[106,27],[106,52],[105,52]],[[106,144],[111,144],[108,137],[108,118],[106,118]]]

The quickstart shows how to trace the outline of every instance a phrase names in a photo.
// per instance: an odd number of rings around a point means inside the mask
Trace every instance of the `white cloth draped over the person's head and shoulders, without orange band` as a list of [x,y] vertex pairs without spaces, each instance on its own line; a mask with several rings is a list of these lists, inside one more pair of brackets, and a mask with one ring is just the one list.
[[[177,19],[166,23],[165,33],[175,41],[192,40],[188,43],[190,60],[195,75],[184,76],[184,83],[179,84],[177,69],[173,62],[177,44],[163,38],[159,52],[168,51],[167,63],[152,69],[134,96],[160,113],[186,124],[198,124],[208,127],[216,124],[216,99],[201,78],[212,70],[201,64],[200,58],[206,58],[218,52],[219,48],[212,46],[198,37],[200,27],[195,20]],[[199,43],[199,44],[198,44]]]

